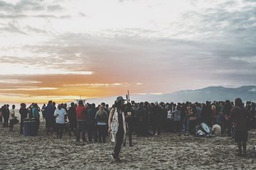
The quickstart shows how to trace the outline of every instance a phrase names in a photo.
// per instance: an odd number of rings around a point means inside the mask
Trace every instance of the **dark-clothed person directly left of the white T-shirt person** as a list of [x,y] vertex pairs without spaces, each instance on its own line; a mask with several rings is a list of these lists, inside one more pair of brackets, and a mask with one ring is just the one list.
[[44,108],[45,130],[47,135],[49,135],[49,132],[52,132],[54,127],[54,111],[55,108],[52,106],[52,101],[48,101],[47,106]]

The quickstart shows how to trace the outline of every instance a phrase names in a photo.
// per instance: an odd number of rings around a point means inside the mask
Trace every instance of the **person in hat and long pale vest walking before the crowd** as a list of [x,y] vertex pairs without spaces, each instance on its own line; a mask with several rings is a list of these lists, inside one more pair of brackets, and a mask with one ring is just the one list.
[[111,158],[117,161],[120,161],[119,153],[126,134],[124,101],[122,96],[116,98],[116,108],[111,109],[108,120],[108,132],[111,132],[116,138],[116,145],[114,152],[111,153]]

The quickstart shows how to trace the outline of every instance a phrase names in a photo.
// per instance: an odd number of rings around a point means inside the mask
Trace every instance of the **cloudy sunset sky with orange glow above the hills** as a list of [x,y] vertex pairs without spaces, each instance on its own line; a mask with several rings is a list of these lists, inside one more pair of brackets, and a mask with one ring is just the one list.
[[256,1],[0,0],[0,102],[256,84]]

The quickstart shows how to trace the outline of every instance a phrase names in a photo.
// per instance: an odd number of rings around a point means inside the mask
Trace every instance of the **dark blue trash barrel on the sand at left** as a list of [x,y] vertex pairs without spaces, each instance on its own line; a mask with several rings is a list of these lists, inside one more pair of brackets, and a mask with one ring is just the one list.
[[24,136],[36,136],[36,119],[25,119],[23,131]]

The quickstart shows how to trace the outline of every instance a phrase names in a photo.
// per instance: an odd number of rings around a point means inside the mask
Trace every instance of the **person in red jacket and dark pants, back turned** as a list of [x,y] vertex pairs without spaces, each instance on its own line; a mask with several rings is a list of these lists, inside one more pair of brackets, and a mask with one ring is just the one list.
[[77,118],[77,132],[76,141],[80,141],[80,133],[82,133],[82,140],[85,141],[86,121],[87,121],[87,107],[84,106],[83,101],[79,101],[76,108]]

